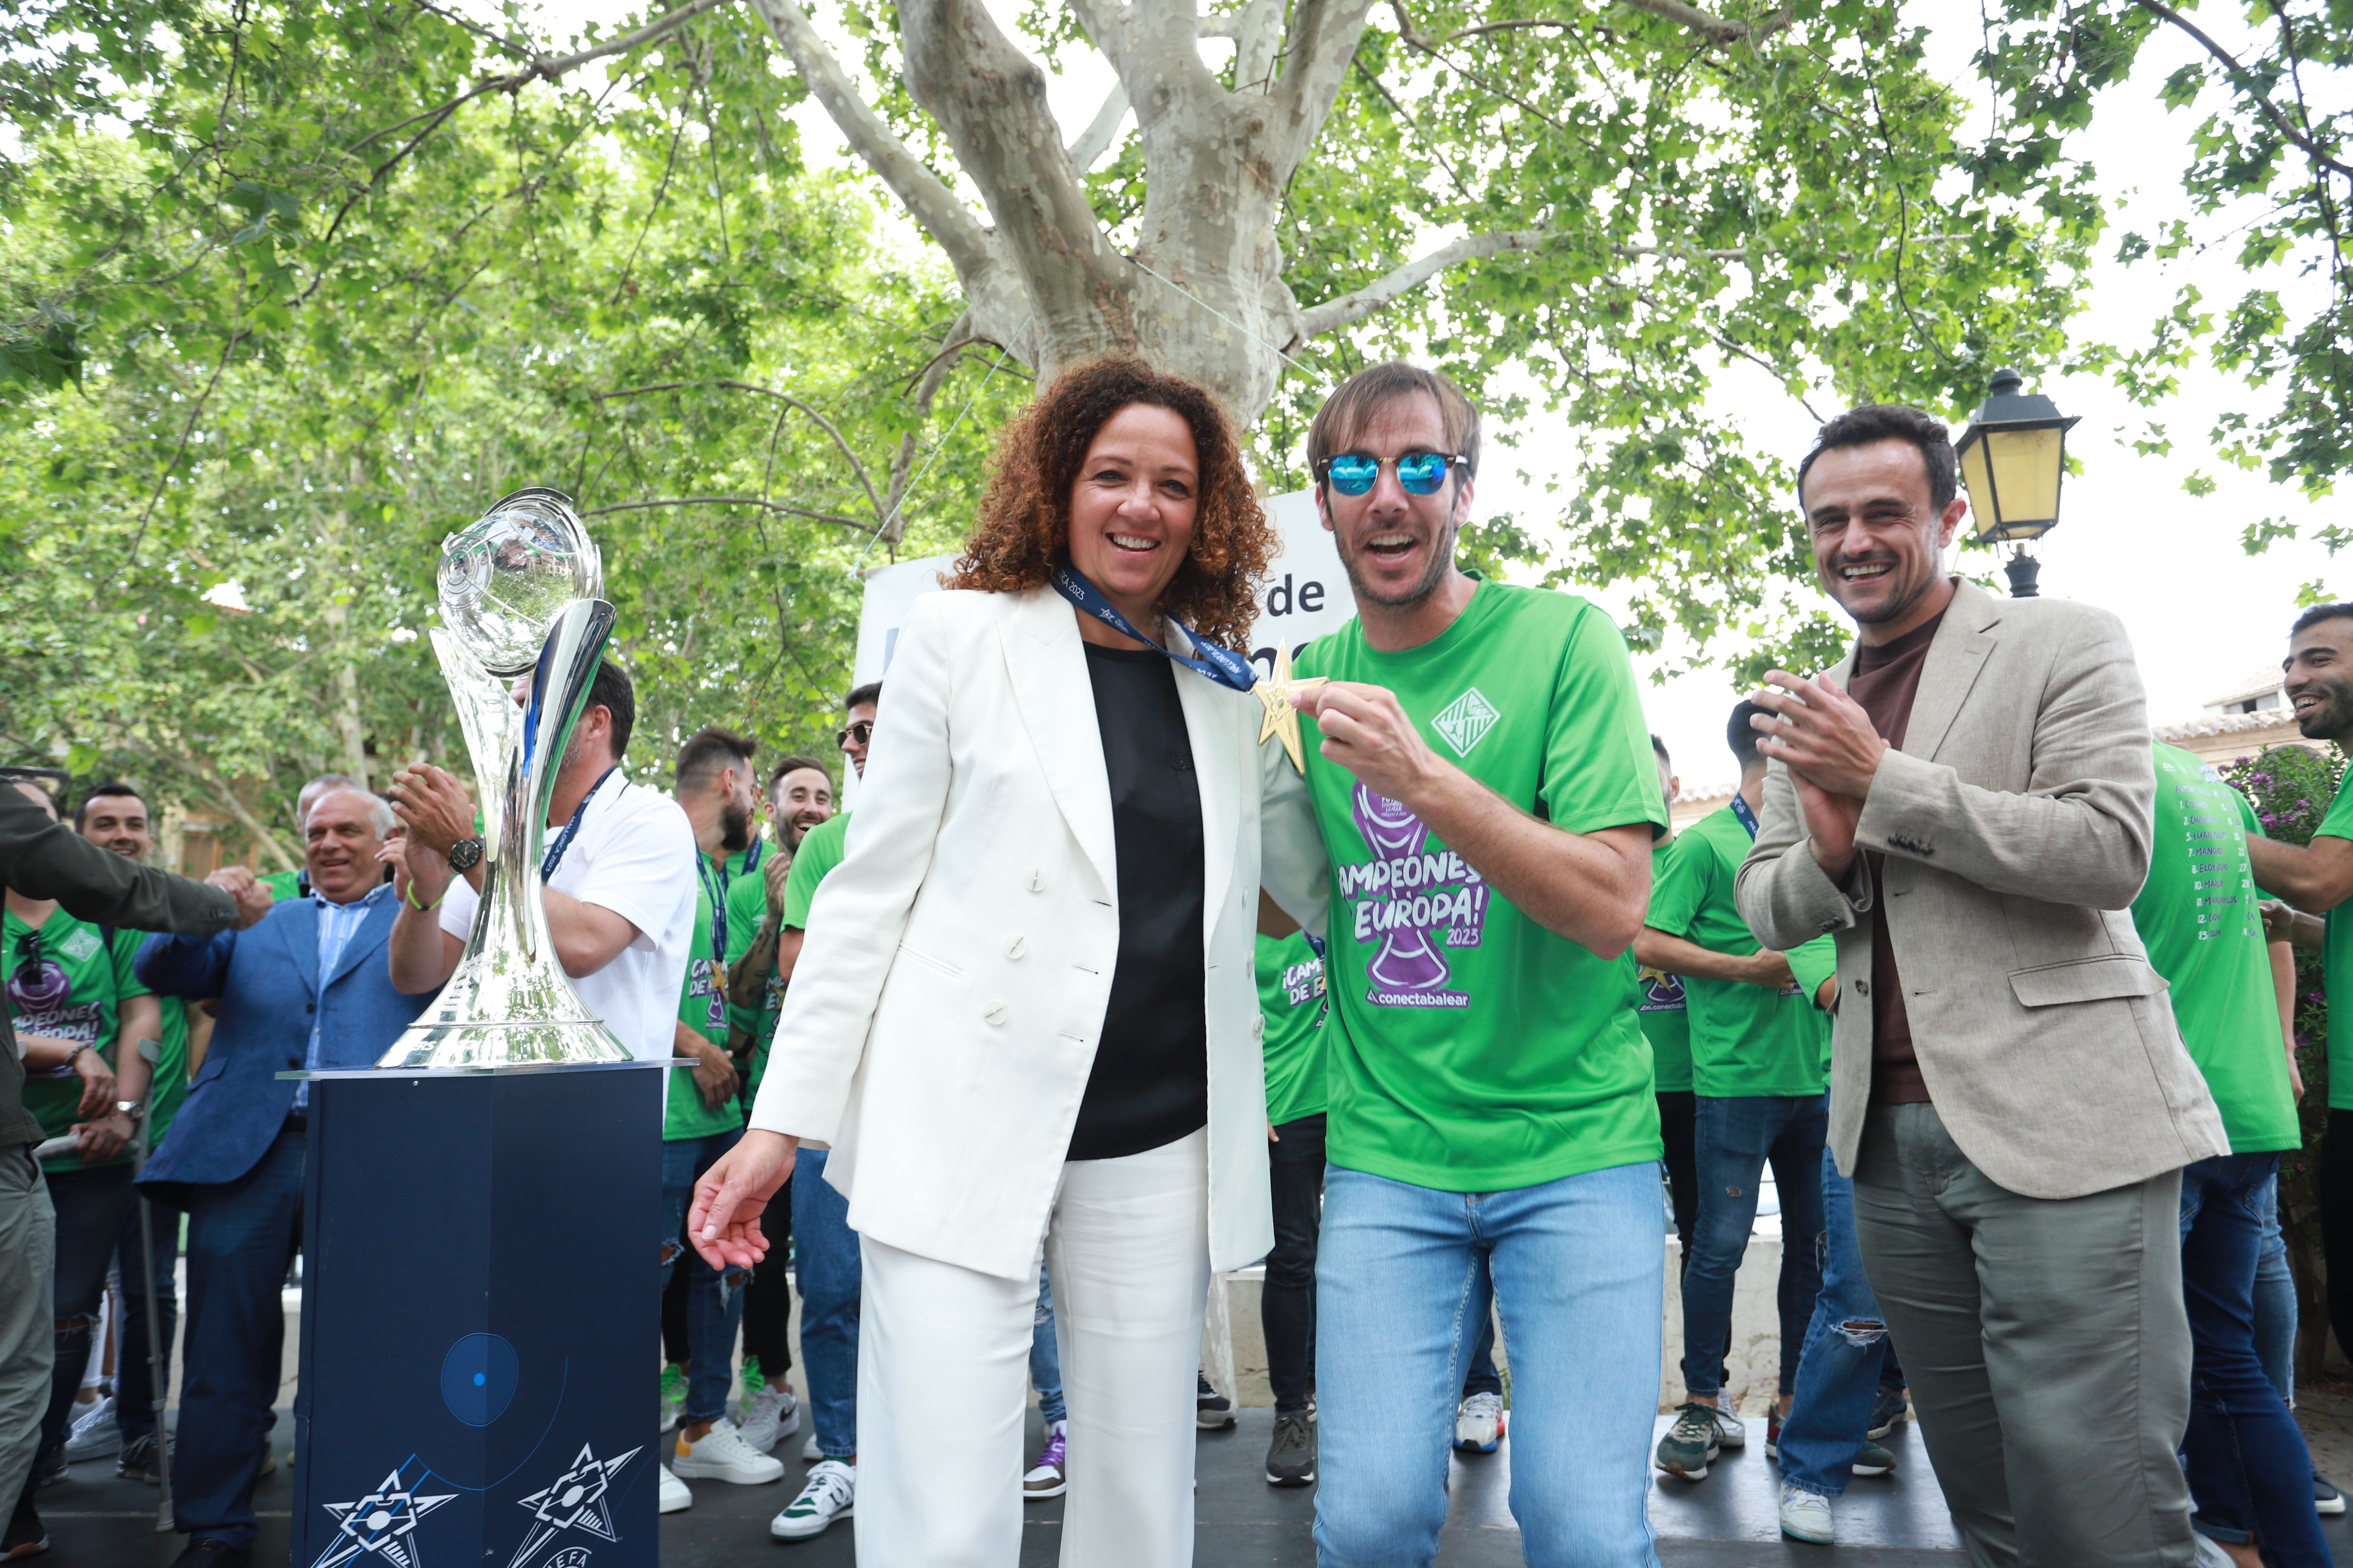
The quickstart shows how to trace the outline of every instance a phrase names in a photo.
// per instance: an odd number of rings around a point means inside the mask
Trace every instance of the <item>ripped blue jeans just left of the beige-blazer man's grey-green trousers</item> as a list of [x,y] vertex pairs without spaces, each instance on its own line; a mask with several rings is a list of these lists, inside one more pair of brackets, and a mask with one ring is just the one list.
[[[1887,1324],[1864,1279],[1854,1241],[1854,1182],[1821,1152],[1821,1295],[1805,1331],[1798,1392],[1781,1422],[1781,1479],[1800,1490],[1835,1497],[1854,1479],[1854,1450],[1871,1429],[1871,1401],[1887,1359]],[[1781,1246],[1798,1246],[1784,1237]]]

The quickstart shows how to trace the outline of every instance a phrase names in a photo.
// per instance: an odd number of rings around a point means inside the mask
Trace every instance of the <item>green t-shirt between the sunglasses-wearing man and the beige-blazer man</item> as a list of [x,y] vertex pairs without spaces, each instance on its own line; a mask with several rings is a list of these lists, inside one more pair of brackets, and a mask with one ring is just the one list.
[[[1666,851],[1649,891],[1647,924],[1708,952],[1748,957],[1762,947],[1732,903],[1732,877],[1748,858],[1748,830],[1732,809],[1711,811]],[[1807,947],[1828,947],[1821,936]],[[1835,964],[1835,957],[1833,957]],[[1819,985],[1819,961],[1809,961]],[[1798,954],[1791,954],[1798,976]],[[1828,1088],[1831,1027],[1805,976],[1781,990],[1741,980],[1682,978],[1692,1018],[1692,1088],[1718,1098],[1819,1095]]]

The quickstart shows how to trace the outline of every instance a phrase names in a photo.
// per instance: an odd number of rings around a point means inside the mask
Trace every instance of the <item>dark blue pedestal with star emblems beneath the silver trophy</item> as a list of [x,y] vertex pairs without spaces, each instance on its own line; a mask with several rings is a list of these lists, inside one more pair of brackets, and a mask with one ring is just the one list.
[[654,1568],[664,1067],[308,1074],[294,1568]]

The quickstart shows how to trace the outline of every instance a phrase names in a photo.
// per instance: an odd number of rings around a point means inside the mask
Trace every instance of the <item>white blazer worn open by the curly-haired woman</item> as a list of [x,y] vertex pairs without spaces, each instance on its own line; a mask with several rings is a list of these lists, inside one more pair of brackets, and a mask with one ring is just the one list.
[[[1205,849],[1209,1267],[1235,1269],[1273,1246],[1259,705],[1191,670],[1176,691]],[[833,1145],[859,1234],[1033,1276],[1111,1004],[1118,886],[1075,611],[1052,588],[925,595],[751,1124]]]

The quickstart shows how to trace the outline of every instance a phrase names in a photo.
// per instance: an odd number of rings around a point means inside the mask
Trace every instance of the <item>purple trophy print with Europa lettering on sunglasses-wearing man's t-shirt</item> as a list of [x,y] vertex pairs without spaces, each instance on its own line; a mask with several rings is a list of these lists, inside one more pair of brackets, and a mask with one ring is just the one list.
[[[1471,1006],[1447,990],[1442,947],[1478,947],[1487,929],[1487,882],[1447,849],[1428,849],[1431,830],[1407,806],[1355,788],[1355,827],[1372,860],[1339,867],[1351,905],[1351,936],[1379,943],[1365,966],[1374,1006]],[[1433,940],[1435,938],[1435,940]]]

